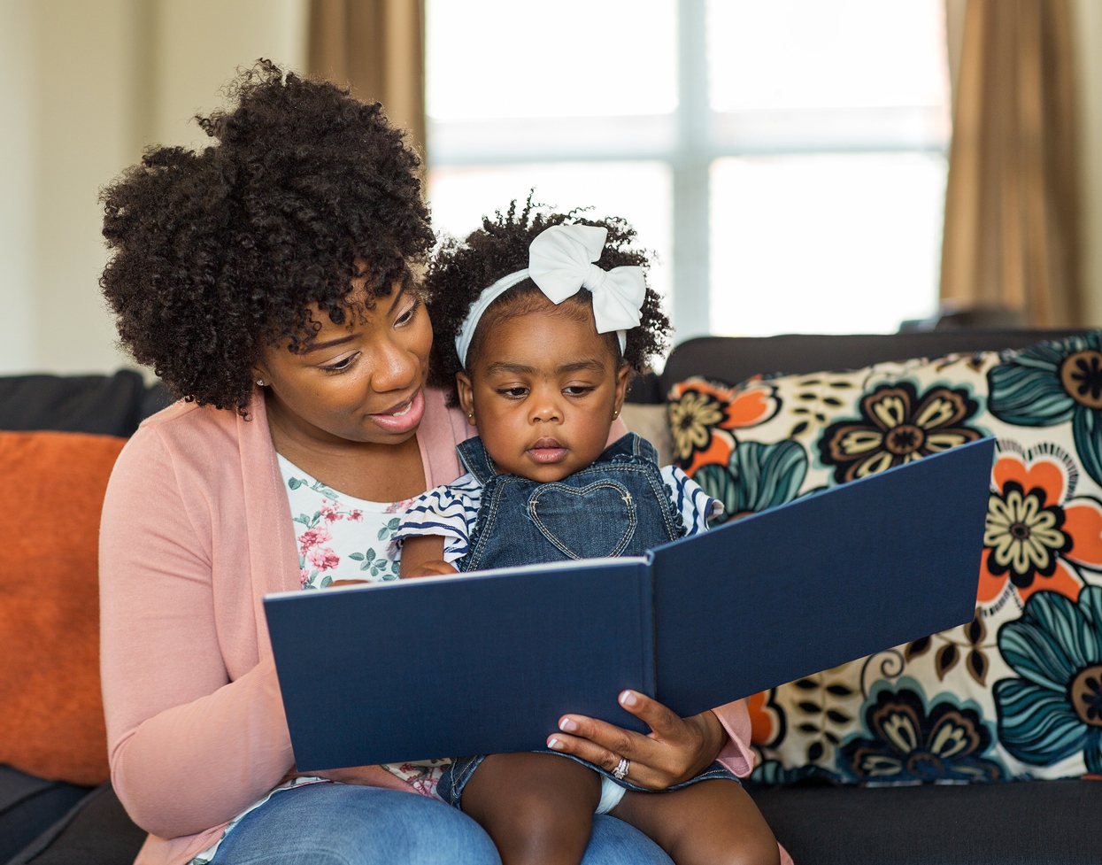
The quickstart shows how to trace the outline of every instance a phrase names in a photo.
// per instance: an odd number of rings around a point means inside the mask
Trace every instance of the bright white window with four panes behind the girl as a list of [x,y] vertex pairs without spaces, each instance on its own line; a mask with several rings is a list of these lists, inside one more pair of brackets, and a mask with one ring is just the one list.
[[679,342],[933,312],[941,0],[428,0],[426,24],[439,229],[529,187],[623,216]]

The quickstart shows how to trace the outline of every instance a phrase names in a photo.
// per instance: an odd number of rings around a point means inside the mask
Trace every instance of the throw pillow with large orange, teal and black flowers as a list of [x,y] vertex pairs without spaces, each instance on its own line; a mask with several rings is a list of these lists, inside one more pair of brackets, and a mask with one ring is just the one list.
[[1102,334],[689,379],[668,420],[677,464],[725,519],[997,439],[974,619],[750,698],[755,780],[1102,776]]

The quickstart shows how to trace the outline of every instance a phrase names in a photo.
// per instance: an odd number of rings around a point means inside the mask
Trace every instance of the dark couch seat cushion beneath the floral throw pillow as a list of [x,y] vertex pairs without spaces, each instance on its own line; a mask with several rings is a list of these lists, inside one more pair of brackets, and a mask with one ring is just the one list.
[[753,790],[798,865],[1088,865],[1099,781]]

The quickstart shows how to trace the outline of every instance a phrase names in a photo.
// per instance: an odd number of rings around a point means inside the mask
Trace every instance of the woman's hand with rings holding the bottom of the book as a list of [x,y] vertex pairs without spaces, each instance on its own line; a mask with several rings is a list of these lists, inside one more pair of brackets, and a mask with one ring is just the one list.
[[711,711],[678,717],[638,691],[624,691],[619,704],[650,727],[649,735],[585,715],[563,715],[548,747],[614,771],[630,761],[625,779],[648,790],[665,790],[695,777],[720,756],[727,733]]

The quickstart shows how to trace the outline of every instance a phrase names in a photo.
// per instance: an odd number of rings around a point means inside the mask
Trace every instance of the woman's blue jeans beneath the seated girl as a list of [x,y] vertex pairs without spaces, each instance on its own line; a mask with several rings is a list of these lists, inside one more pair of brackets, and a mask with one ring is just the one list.
[[[339,783],[276,793],[238,823],[210,865],[500,865],[474,820],[422,796]],[[582,865],[672,865],[650,839],[595,817]]]

